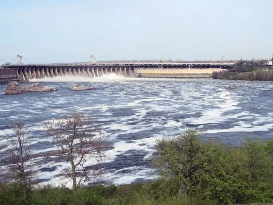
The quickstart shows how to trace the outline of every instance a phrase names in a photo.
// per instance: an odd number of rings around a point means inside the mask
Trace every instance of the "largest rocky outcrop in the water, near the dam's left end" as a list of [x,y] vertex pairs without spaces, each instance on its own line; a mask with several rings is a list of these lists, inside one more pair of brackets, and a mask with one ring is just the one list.
[[6,87],[6,95],[21,94],[23,92],[46,92],[56,91],[55,87],[42,86],[40,83],[33,83],[31,85],[20,85],[18,82],[10,82]]

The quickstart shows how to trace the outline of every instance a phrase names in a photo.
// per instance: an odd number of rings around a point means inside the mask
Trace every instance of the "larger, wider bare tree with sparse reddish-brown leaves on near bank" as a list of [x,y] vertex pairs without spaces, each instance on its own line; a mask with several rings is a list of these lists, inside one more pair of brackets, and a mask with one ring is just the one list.
[[91,133],[94,123],[94,118],[87,113],[73,112],[64,119],[45,125],[47,133],[53,137],[53,143],[58,146],[52,155],[71,164],[71,169],[66,170],[64,176],[72,180],[73,189],[102,173],[102,170],[88,170],[85,166],[89,159],[100,160],[104,156],[102,135]]

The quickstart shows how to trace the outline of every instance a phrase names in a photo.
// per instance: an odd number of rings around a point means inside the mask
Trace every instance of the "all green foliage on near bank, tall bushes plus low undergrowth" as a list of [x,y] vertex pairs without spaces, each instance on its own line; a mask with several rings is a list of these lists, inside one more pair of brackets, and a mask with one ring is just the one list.
[[23,196],[0,184],[0,204],[233,204],[273,202],[273,141],[245,139],[228,147],[186,131],[157,141],[152,157],[161,179],[146,184],[45,186]]

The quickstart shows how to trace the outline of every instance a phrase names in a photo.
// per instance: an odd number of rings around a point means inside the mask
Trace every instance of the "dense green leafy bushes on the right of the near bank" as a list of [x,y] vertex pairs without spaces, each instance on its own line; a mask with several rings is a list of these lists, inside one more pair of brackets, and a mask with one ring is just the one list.
[[272,142],[245,139],[239,147],[202,141],[191,130],[157,142],[155,165],[179,182],[183,195],[217,203],[273,202]]

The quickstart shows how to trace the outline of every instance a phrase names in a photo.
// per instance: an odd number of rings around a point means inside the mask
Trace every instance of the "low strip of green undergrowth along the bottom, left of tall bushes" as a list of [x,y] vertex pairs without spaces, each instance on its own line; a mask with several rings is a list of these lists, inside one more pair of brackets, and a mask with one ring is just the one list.
[[[159,187],[157,187],[159,185]],[[0,189],[1,186],[0,185]],[[167,187],[167,190],[164,188]],[[10,184],[0,191],[0,204],[216,204],[211,200],[178,196],[177,187],[170,181],[159,180],[151,184],[96,185],[73,191],[65,187],[45,186],[22,196],[20,184]]]

